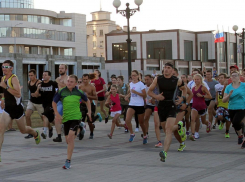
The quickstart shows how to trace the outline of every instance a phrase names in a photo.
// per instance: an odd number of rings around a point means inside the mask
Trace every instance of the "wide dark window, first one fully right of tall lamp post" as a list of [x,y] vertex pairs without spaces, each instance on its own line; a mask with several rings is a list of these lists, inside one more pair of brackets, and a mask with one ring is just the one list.
[[147,41],[147,59],[172,59],[172,40]]

